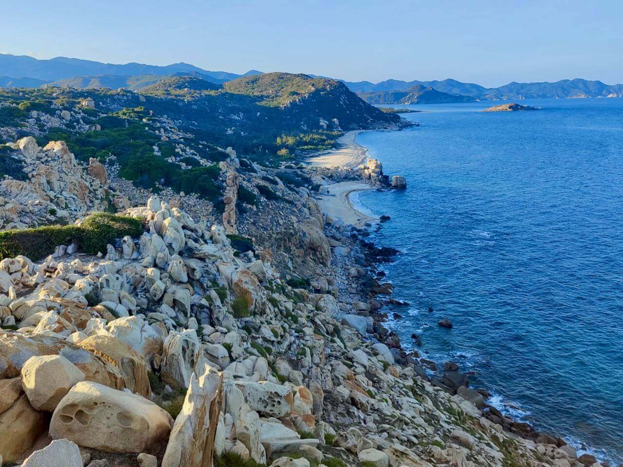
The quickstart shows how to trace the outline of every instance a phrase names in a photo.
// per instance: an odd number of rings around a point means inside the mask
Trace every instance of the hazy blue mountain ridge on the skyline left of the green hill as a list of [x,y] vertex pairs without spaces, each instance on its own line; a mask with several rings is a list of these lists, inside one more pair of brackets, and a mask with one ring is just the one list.
[[[219,83],[241,76],[236,73],[203,70],[183,62],[159,67],[137,63],[125,65],[103,64],[92,60],[69,59],[67,57],[39,60],[26,55],[0,54],[0,75],[36,78],[37,80],[47,82],[74,77],[97,77],[102,75],[138,76],[173,75],[174,73],[201,73]],[[251,70],[245,73],[245,75],[249,73],[256,74],[259,72]]]

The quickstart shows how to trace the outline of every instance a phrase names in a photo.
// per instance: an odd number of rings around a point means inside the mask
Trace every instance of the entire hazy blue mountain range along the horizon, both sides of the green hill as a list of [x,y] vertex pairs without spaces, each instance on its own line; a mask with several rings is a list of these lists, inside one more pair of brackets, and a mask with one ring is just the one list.
[[[45,84],[77,88],[128,88],[139,90],[165,77],[193,76],[214,84],[236,78],[259,75],[249,70],[239,75],[210,71],[183,62],[166,66],[129,63],[103,64],[92,60],[55,57],[39,60],[25,55],[0,54],[0,87],[40,87]],[[315,77],[315,75],[310,75]],[[525,98],[623,97],[623,85],[607,85],[601,81],[580,78],[557,82],[511,82],[497,88],[453,79],[433,81],[384,80],[348,82],[353,92],[371,103],[444,103],[473,100],[505,100]]]

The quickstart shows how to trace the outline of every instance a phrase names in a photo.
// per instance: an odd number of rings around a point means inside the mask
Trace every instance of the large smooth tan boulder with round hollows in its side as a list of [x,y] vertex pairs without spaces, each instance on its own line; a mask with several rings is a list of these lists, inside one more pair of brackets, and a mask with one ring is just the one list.
[[57,405],[50,436],[115,453],[147,451],[171,432],[173,418],[136,394],[82,381]]

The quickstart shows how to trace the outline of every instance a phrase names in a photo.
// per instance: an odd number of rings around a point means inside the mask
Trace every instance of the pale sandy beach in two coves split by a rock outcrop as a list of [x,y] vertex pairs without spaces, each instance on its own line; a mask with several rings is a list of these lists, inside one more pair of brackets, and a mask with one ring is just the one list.
[[[368,160],[368,149],[356,143],[361,131],[348,131],[338,139],[340,146],[333,151],[317,154],[307,159],[311,166],[347,167],[356,169]],[[363,182],[345,181],[326,186],[325,193],[317,197],[323,212],[333,219],[341,219],[346,224],[363,227],[366,222],[378,222],[378,217],[361,212],[363,207],[353,204],[351,194],[358,191],[373,190],[374,187]]]

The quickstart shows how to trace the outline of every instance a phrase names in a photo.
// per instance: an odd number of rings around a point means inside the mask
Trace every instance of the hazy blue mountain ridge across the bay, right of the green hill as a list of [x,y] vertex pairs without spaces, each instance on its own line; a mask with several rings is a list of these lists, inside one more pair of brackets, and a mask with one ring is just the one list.
[[555,83],[509,83],[498,88],[485,88],[474,83],[462,83],[447,79],[442,81],[385,80],[379,83],[368,81],[345,82],[351,91],[373,93],[406,91],[414,85],[431,87],[434,90],[464,95],[477,99],[528,99],[528,98],[571,98],[571,97],[623,97],[623,85],[606,85],[601,81],[583,79],[561,80]]

